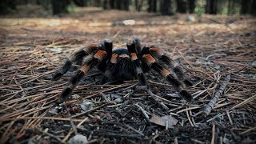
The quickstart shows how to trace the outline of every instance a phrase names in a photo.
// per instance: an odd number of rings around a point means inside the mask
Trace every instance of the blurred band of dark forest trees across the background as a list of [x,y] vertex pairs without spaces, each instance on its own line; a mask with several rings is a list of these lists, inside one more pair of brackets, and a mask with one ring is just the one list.
[[200,5],[206,14],[256,14],[256,0],[0,0],[0,14],[9,14],[17,5],[37,4],[52,14],[70,12],[68,7],[97,6],[103,10],[147,11],[172,15],[194,13]]

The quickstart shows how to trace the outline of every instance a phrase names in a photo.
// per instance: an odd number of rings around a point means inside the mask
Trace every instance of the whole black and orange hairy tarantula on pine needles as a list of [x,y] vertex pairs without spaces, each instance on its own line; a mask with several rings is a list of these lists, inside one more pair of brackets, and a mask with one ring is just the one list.
[[[60,102],[71,95],[78,82],[94,66],[98,66],[98,70],[102,71],[103,82],[110,80],[122,82],[137,77],[139,85],[142,87],[147,86],[144,73],[153,69],[166,78],[182,98],[188,101],[192,100],[192,96],[185,86],[185,84],[192,86],[192,83],[184,74],[185,71],[182,66],[174,62],[156,46],[144,46],[142,48],[137,37],[131,37],[126,46],[127,48],[113,49],[112,42],[106,39],[98,44],[90,44],[85,49],[72,54],[52,78],[54,81],[61,78],[74,62],[81,65],[74,77],[70,78],[69,85],[62,91]],[[167,70],[160,63],[169,65],[172,70]]]

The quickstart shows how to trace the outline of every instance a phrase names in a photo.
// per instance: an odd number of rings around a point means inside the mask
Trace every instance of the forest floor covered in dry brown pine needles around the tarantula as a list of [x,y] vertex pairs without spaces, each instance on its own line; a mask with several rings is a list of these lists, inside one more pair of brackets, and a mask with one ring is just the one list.
[[[256,142],[256,18],[203,15],[192,22],[186,14],[95,8],[58,18],[34,11],[0,18],[1,143],[60,143],[78,134],[90,143]],[[180,98],[154,71],[146,74],[154,92],[148,94],[136,90],[136,80],[100,85],[94,69],[56,104],[75,73],[50,81],[63,58],[105,38],[125,47],[132,35],[186,67],[194,102]],[[206,110],[226,82],[213,110]]]

